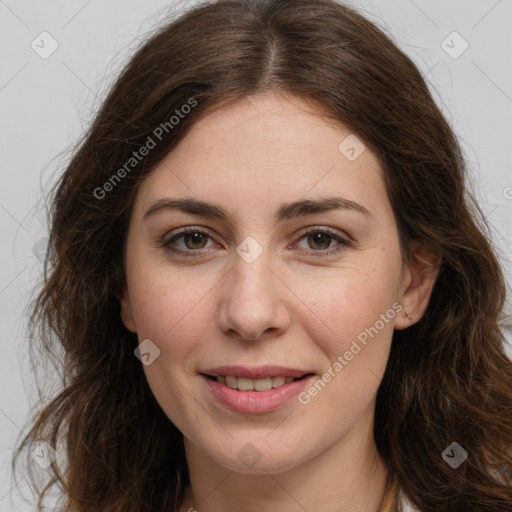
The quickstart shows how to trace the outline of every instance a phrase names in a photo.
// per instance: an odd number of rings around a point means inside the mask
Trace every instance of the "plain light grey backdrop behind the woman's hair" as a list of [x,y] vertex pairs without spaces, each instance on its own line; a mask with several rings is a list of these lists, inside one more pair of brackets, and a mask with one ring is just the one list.
[[[510,282],[512,265],[512,1],[352,2],[384,26],[426,74],[467,153]],[[0,512],[34,510],[11,491],[10,459],[33,396],[24,305],[46,230],[42,187],[92,118],[108,85],[169,6],[153,0],[0,0]],[[48,32],[57,50],[31,44]],[[457,31],[463,38],[447,36]],[[453,47],[458,58],[442,48]],[[35,254],[36,253],[36,254]],[[510,335],[510,331],[508,331]],[[512,351],[511,351],[512,352]],[[22,482],[23,484],[23,482]]]

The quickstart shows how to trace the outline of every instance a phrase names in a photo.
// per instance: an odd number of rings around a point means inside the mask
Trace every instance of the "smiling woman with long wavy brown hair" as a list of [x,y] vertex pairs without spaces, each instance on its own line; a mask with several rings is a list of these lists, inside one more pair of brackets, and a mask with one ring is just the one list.
[[55,188],[32,326],[66,373],[19,451],[64,443],[70,512],[512,510],[479,219],[372,23],[331,0],[191,9]]

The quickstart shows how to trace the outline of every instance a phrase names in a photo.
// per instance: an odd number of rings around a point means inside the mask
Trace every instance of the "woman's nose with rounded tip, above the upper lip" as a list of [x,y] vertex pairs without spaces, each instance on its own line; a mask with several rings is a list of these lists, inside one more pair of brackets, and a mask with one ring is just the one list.
[[218,325],[227,336],[255,341],[287,330],[291,292],[284,276],[270,267],[271,260],[267,248],[254,261],[233,255],[231,271],[219,283],[217,309]]

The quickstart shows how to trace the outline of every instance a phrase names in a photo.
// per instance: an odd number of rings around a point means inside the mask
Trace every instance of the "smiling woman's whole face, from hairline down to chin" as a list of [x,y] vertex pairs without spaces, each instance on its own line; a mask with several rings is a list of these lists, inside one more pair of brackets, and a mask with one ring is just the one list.
[[149,385],[210,462],[280,472],[371,437],[411,274],[349,130],[276,95],[211,113],[141,184],[126,271]]

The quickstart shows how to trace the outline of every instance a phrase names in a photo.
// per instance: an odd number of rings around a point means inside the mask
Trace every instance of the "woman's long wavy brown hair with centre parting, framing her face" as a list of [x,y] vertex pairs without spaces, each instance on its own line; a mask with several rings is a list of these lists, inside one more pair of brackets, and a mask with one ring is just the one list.
[[[51,196],[31,337],[62,369],[62,389],[35,413],[14,466],[41,440],[63,444],[46,488],[67,511],[177,510],[189,483],[182,435],[120,319],[129,214],[138,184],[201,116],[272,91],[350,127],[380,160],[404,256],[415,240],[442,255],[427,311],[394,333],[378,390],[374,435],[390,474],[422,512],[512,510],[505,285],[462,152],[413,62],[333,0],[198,5],[122,71]],[[456,469],[442,457],[452,442],[468,453]]]

